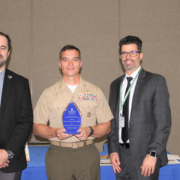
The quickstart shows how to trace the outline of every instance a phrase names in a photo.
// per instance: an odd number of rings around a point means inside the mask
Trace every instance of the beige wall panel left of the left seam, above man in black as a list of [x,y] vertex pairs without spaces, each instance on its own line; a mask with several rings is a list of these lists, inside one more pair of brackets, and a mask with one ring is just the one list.
[[31,83],[31,1],[1,0],[0,3],[0,31],[12,41],[7,67]]

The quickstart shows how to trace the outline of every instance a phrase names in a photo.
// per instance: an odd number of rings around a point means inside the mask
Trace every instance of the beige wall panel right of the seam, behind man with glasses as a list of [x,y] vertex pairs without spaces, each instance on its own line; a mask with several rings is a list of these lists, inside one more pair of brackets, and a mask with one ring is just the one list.
[[167,150],[180,155],[179,9],[179,0],[122,0],[120,3],[120,38],[139,36],[143,41],[142,66],[167,80],[172,112]]

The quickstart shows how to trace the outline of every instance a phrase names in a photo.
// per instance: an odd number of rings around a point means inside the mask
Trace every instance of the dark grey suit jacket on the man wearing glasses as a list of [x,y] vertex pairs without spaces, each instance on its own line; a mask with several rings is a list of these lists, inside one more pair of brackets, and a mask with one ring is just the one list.
[[[109,104],[114,115],[108,135],[109,153],[119,153],[119,88],[124,75],[112,82]],[[130,125],[130,151],[139,168],[149,150],[158,154],[160,166],[167,164],[166,144],[171,128],[171,112],[166,80],[142,70],[134,91]],[[120,156],[120,153],[119,153]]]

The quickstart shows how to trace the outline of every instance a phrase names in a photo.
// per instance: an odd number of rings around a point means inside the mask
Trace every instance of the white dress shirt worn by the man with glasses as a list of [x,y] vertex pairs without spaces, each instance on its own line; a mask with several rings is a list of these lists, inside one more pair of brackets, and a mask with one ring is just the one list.
[[[131,76],[128,76],[127,74],[125,74],[125,77],[124,77],[123,83],[122,83],[122,102],[124,101],[125,91],[126,91],[126,87],[127,87],[127,84],[128,84],[127,77],[132,77],[133,78],[131,80],[131,82],[130,82],[130,84],[132,84],[134,78],[136,77],[136,75],[138,74],[140,69],[141,69],[141,66],[135,72],[133,72],[133,74],[131,74]],[[129,122],[130,122],[130,117],[131,117],[132,99],[133,99],[133,95],[134,95],[134,90],[135,90],[135,87],[136,87],[137,79],[138,79],[138,77],[134,81],[134,84],[133,84],[133,86],[131,88],[131,91],[129,93],[129,119],[128,119]],[[121,103],[121,102],[119,102],[119,103]],[[120,111],[119,115],[123,114],[123,108],[122,108],[122,110],[120,110],[120,106],[119,106],[119,111]],[[122,128],[119,128],[119,143],[123,144],[123,141],[122,141],[122,138],[121,138],[121,132],[122,132]],[[127,143],[129,143],[129,139],[127,140]]]

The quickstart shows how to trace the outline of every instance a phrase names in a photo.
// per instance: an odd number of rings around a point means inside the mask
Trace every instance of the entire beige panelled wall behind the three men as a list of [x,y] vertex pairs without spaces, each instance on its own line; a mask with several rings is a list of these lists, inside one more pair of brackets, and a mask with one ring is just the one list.
[[[167,149],[180,154],[178,83],[180,61],[179,0],[0,0],[0,31],[10,35],[8,68],[30,81],[33,106],[42,91],[61,78],[60,49],[80,48],[81,76],[99,86],[108,99],[111,81],[123,74],[118,42],[126,35],[143,40],[143,67],[167,79],[172,130]],[[34,137],[31,141],[37,141]],[[105,138],[98,139],[102,150]]]

